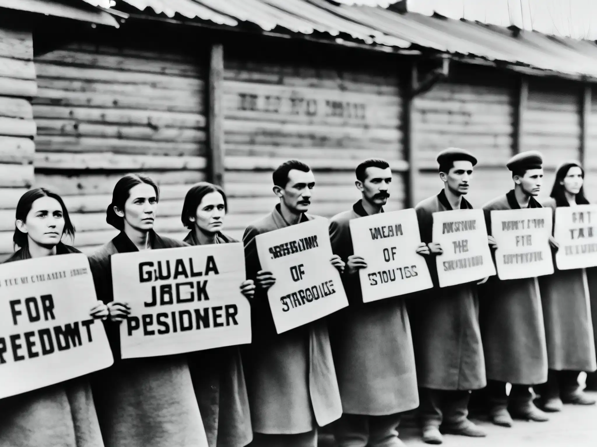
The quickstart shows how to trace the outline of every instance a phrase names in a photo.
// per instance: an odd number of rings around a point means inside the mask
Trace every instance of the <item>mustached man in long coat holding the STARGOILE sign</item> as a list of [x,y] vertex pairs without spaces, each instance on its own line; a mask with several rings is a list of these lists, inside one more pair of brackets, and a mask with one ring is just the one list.
[[[318,426],[342,414],[336,371],[325,319],[276,334],[267,289],[276,282],[261,270],[255,237],[279,228],[317,219],[306,214],[315,176],[298,160],[273,172],[273,192],[280,203],[245,230],[242,241],[247,279],[257,285],[251,303],[253,343],[244,347],[243,365],[253,423],[252,447],[315,447]],[[344,262],[330,259],[340,273]]]

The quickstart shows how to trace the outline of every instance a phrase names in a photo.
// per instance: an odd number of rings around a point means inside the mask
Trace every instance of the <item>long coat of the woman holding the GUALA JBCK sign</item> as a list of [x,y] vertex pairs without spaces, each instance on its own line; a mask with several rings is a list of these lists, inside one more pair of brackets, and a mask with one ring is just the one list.
[[[152,249],[186,246],[150,234]],[[97,296],[113,301],[111,256],[135,252],[124,232],[90,256]],[[121,359],[118,324],[106,332],[115,364],[94,377],[93,394],[106,447],[207,447],[186,355]]]

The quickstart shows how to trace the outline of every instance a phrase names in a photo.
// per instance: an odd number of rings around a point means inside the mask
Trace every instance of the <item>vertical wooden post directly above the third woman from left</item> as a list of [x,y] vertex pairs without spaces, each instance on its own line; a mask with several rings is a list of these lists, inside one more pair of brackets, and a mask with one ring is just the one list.
[[216,185],[224,184],[224,114],[223,114],[224,48],[213,44],[208,78],[208,178]]

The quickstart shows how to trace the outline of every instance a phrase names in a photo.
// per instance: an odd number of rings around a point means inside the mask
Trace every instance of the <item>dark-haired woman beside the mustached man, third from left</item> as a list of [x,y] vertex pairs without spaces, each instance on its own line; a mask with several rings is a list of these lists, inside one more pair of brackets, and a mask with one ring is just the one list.
[[[190,245],[238,242],[221,232],[227,212],[226,194],[220,187],[201,182],[184,198],[181,221],[190,229]],[[253,297],[252,280],[240,284]],[[204,350],[192,355],[191,374],[210,447],[242,447],[253,439],[247,386],[238,346]]]

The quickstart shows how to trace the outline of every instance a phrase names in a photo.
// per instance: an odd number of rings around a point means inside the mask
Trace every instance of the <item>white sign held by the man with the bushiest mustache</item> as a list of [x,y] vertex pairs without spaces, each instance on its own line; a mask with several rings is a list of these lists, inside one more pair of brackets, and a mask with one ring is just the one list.
[[414,209],[352,219],[350,237],[355,254],[367,268],[359,270],[363,302],[381,300],[433,287]]

